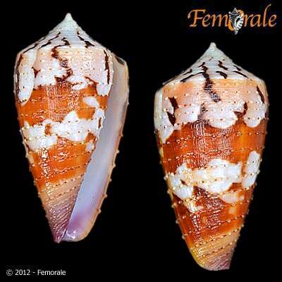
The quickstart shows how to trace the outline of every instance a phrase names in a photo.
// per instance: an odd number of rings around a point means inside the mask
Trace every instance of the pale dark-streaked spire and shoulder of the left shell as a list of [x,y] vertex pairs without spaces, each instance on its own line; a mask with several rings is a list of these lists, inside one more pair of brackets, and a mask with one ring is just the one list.
[[69,14],[47,37],[20,51],[16,65],[20,55],[23,59],[15,70],[19,74],[17,78],[15,73],[15,81],[22,105],[30,99],[33,88],[56,85],[56,78],[66,78],[73,90],[95,83],[97,94],[109,94],[114,73],[111,52],[91,39]]

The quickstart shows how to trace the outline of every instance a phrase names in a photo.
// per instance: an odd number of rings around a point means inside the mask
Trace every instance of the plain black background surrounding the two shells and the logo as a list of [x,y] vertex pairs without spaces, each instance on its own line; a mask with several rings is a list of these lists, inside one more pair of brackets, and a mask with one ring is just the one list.
[[[270,121],[266,149],[257,178],[250,214],[235,249],[231,271],[269,271],[275,266],[281,228],[281,10],[278,1],[185,1],[180,4],[136,1],[116,4],[93,1],[75,5],[56,3],[11,7],[2,25],[4,76],[1,111],[2,246],[7,268],[63,269],[68,276],[189,279],[197,266],[181,239],[166,193],[154,137],[154,92],[161,83],[188,68],[209,47],[217,47],[247,71],[263,78],[269,91]],[[223,2],[223,1],[222,1]],[[227,1],[226,1],[227,2]],[[246,3],[247,2],[247,3]],[[66,2],[67,3],[67,2]],[[278,16],[276,27],[246,28],[238,35],[226,29],[191,28],[187,14],[194,8],[227,13]],[[128,63],[130,105],[120,154],[108,195],[91,233],[78,243],[53,243],[47,219],[28,171],[13,97],[16,53],[44,36],[71,12],[91,37]],[[3,28],[4,27],[4,28]],[[8,137],[6,133],[8,132]],[[280,156],[279,156],[280,155]],[[225,271],[227,272],[227,271]]]

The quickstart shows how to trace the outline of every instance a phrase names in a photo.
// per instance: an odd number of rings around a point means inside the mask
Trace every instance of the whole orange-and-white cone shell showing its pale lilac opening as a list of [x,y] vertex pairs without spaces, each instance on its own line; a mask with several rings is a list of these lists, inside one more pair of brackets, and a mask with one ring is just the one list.
[[54,240],[81,240],[114,168],[128,106],[126,63],[68,14],[18,53],[14,80],[20,133]]

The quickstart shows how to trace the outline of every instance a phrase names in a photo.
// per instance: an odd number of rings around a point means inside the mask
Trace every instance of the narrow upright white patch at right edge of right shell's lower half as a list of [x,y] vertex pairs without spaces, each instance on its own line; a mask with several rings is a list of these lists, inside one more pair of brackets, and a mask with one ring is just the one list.
[[245,164],[242,185],[244,188],[249,188],[255,183],[257,174],[259,174],[260,157],[255,151],[250,152]]

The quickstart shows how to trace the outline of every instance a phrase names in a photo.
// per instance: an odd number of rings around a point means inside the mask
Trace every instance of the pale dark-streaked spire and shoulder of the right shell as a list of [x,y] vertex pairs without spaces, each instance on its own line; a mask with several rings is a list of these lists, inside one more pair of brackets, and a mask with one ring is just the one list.
[[[221,62],[221,67],[219,66],[219,62]],[[209,80],[212,82],[212,85],[210,86],[212,89],[210,89],[210,91],[219,95],[219,99],[217,100],[212,99],[210,93],[208,93],[209,90],[204,90],[207,78],[202,74],[204,72],[202,63],[204,63],[204,68],[207,68],[205,73],[209,76]],[[224,68],[228,69],[225,70]],[[155,109],[155,111],[158,111],[159,113],[166,109],[166,103],[169,97],[177,96],[176,102],[178,104],[178,109],[176,109],[174,113],[171,111],[171,114],[174,114],[176,118],[176,125],[168,125],[169,121],[167,115],[163,114],[161,116],[161,114],[155,114],[155,116],[161,117],[159,118],[158,128],[167,128],[165,135],[160,134],[163,143],[166,142],[166,139],[173,133],[173,130],[180,130],[182,125],[197,121],[201,107],[204,109],[202,118],[215,128],[224,129],[234,125],[236,121],[238,121],[237,113],[244,113],[245,103],[247,104],[247,111],[243,116],[243,120],[247,126],[255,128],[259,125],[262,119],[265,118],[268,105],[264,82],[255,77],[255,75],[252,75],[252,73],[236,66],[231,59],[216,48],[215,44],[211,44],[204,55],[195,64],[188,68],[188,70],[189,71],[181,73],[172,81],[166,83],[156,94],[157,99],[159,93],[163,93],[161,95],[162,101],[159,102],[160,106],[158,109]],[[216,88],[216,81],[220,80],[222,82],[225,80],[220,73],[228,75],[228,81],[237,80],[241,85],[245,85],[244,87],[247,88],[247,91],[237,91],[238,87],[236,85],[227,86],[226,90]],[[192,76],[190,77],[190,75]],[[245,78],[244,75],[246,75],[247,78]],[[185,78],[188,78],[188,82],[193,83],[190,84],[192,89],[189,93],[181,93],[180,95],[177,95],[178,87],[180,87],[182,83],[185,83],[181,82],[181,80]],[[263,102],[261,97],[259,97],[256,87],[250,86],[250,80],[255,81],[255,84],[259,87],[266,102]],[[245,84],[242,84],[243,82]],[[166,89],[165,93],[163,91],[164,88]],[[173,93],[170,94],[170,92]]]

